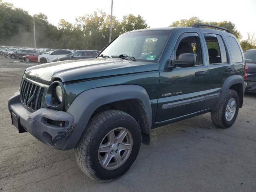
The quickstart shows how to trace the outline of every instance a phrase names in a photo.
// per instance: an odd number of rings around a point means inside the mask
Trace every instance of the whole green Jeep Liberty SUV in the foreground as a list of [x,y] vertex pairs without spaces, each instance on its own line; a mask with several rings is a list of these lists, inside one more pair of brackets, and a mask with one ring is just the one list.
[[75,148],[90,178],[120,177],[150,129],[211,112],[232,126],[243,104],[245,62],[228,30],[168,27],[122,34],[94,59],[27,68],[8,101],[12,124],[58,150]]

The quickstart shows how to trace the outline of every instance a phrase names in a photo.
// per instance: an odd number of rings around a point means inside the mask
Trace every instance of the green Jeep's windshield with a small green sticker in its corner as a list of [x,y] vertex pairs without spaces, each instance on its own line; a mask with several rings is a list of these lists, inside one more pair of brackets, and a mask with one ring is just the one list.
[[124,58],[136,61],[157,62],[164,50],[170,31],[140,31],[120,35],[103,52],[105,57]]

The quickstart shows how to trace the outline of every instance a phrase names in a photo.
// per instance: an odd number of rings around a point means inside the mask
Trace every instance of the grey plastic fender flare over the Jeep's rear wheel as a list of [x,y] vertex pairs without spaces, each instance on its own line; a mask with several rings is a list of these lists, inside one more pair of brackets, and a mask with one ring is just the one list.
[[244,94],[244,91],[245,91],[244,78],[241,75],[229,76],[228,78],[226,78],[226,80],[222,86],[222,93],[221,93],[220,98],[219,98],[217,104],[215,105],[213,111],[217,110],[219,108],[219,106],[220,106],[222,100],[224,99],[226,93],[228,92],[229,88],[234,84],[242,84],[243,94]]

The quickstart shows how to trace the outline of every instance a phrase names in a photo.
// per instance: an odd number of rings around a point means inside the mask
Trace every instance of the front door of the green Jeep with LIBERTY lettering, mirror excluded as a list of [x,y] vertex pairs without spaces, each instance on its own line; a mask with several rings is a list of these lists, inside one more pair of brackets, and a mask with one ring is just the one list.
[[178,59],[180,54],[190,53],[196,55],[196,65],[160,70],[156,122],[202,110],[208,76],[202,45],[197,33],[183,33],[179,36],[170,60]]

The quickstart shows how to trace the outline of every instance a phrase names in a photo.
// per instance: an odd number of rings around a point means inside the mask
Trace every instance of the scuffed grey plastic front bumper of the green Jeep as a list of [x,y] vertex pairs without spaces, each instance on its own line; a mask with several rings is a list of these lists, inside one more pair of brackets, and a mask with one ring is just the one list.
[[20,102],[20,92],[8,100],[12,124],[19,132],[28,131],[38,140],[62,150],[74,128],[74,117],[68,112],[40,108],[30,112]]

